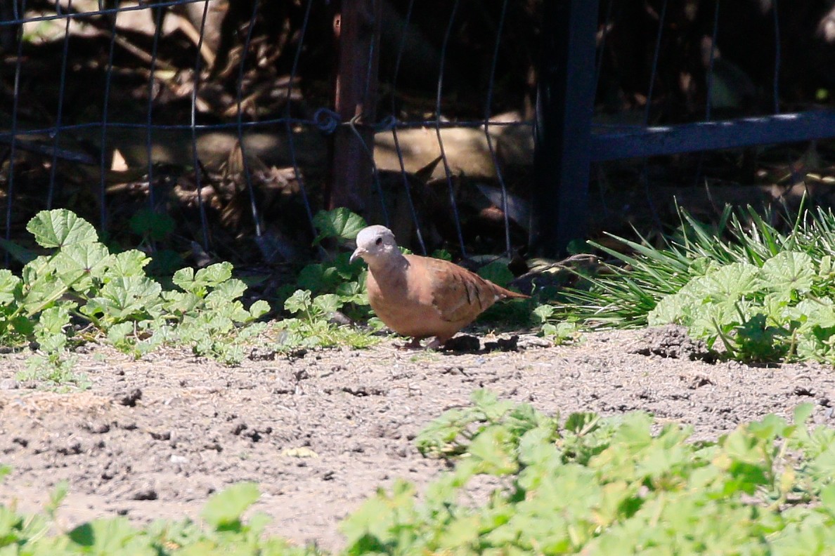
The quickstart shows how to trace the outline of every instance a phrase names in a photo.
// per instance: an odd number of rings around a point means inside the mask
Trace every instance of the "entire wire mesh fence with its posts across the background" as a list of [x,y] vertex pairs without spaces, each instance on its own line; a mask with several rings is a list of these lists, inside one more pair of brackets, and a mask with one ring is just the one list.
[[659,221],[665,188],[827,183],[808,143],[751,146],[835,133],[833,21],[777,0],[10,0],[4,244],[68,207],[115,244],[292,262],[347,206],[424,253],[554,252]]

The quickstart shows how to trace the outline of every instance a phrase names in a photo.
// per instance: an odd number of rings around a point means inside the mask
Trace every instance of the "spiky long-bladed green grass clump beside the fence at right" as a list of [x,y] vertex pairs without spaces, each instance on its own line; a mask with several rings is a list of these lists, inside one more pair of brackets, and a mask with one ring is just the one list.
[[615,235],[615,250],[600,243],[590,245],[609,255],[595,274],[584,273],[582,288],[565,288],[568,303],[558,316],[574,316],[591,328],[639,328],[665,295],[676,293],[691,278],[705,274],[717,264],[762,263],[784,250],[802,251],[815,257],[835,247],[835,217],[818,208],[794,218],[790,231],[780,232],[754,208],[736,213],[727,206],[718,221],[709,225],[679,210],[680,227],[662,238],[663,247],[647,239],[630,241]]

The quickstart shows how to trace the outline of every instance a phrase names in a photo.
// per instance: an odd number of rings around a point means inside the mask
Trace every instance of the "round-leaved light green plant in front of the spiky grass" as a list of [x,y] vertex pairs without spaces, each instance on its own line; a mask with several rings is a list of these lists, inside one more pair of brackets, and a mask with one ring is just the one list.
[[832,263],[783,251],[762,263],[714,266],[661,298],[650,324],[681,323],[734,358],[835,363]]

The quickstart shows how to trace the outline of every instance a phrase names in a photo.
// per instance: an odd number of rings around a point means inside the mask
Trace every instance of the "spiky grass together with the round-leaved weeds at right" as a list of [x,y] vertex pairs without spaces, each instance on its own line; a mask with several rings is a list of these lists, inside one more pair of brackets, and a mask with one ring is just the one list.
[[786,232],[750,207],[726,208],[714,228],[680,213],[663,248],[616,238],[629,250],[621,253],[593,243],[617,264],[566,293],[574,318],[592,328],[678,323],[746,361],[835,363],[831,211],[802,210]]

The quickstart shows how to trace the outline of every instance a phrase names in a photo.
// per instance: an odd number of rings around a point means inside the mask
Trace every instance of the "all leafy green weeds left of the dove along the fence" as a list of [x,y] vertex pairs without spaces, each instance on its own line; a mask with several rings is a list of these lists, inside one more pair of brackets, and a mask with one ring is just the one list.
[[[365,225],[345,209],[319,213],[316,223],[320,240],[350,238]],[[170,222],[150,211],[137,213],[131,226],[149,240],[170,233]],[[88,385],[73,373],[68,352],[90,339],[104,338],[136,358],[164,344],[188,345],[229,364],[240,363],[253,344],[264,341],[267,324],[257,321],[271,308],[263,300],[249,308],[241,303],[245,284],[232,278],[230,263],[181,268],[172,278],[175,289],[164,290],[148,276],[152,261],[144,253],[110,253],[94,228],[67,210],[38,213],[28,230],[49,253],[24,253],[28,263],[19,277],[0,270],[0,342],[38,345],[20,379]],[[366,332],[331,323],[339,310],[367,315],[364,271],[348,258],[341,253],[301,271],[307,297],[287,300],[287,310],[297,314],[279,325],[281,351],[373,343]]]

